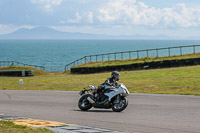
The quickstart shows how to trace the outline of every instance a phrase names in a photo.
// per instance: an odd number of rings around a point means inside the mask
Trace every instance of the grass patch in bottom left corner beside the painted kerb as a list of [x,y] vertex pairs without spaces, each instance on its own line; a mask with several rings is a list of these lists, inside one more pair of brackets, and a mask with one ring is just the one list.
[[30,128],[27,126],[15,125],[11,121],[0,120],[0,133],[53,133],[45,128]]

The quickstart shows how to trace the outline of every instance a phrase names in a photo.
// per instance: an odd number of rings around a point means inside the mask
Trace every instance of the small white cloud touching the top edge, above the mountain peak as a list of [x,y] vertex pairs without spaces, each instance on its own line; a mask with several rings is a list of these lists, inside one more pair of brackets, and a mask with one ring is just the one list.
[[53,6],[58,6],[63,0],[31,0],[34,4],[41,4],[46,11],[53,11]]

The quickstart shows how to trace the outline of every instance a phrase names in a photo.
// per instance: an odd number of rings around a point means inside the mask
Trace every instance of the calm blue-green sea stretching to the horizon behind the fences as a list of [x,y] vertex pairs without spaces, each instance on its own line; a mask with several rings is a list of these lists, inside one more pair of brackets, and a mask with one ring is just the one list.
[[[0,61],[16,61],[40,66],[65,66],[83,56],[200,45],[198,40],[0,40]],[[196,49],[200,51],[200,48]],[[179,50],[171,51],[171,54]],[[192,48],[184,50],[191,53]],[[159,54],[167,55],[167,51]],[[133,53],[134,54],[134,53]],[[143,56],[145,53],[141,53]],[[125,55],[126,56],[126,55]],[[127,55],[128,56],[128,55]],[[131,55],[132,57],[136,55]],[[149,52],[155,56],[155,51]]]

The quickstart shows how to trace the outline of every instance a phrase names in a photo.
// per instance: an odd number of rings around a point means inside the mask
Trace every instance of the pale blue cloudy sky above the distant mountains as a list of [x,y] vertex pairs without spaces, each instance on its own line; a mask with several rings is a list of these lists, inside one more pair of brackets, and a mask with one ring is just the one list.
[[200,0],[0,0],[0,35],[38,26],[106,35],[200,36]]

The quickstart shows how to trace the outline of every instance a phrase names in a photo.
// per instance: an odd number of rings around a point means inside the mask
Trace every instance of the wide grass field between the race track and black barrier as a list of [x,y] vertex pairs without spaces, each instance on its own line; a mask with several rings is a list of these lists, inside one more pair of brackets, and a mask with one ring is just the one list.
[[[200,65],[123,71],[120,74],[120,82],[124,83],[130,92],[200,95]],[[47,73],[33,77],[0,77],[0,89],[78,91],[89,84],[98,86],[108,77],[110,77],[110,72],[84,75]],[[19,79],[23,79],[23,85],[19,84]]]

